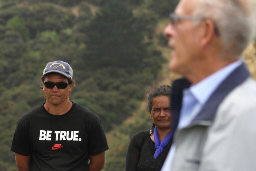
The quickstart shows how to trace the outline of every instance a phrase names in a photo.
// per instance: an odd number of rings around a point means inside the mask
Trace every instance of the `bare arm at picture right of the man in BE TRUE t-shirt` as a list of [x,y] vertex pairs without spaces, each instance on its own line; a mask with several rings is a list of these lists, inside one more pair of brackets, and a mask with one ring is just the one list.
[[105,151],[94,155],[90,156],[90,163],[89,163],[89,171],[100,171],[104,168],[105,166]]

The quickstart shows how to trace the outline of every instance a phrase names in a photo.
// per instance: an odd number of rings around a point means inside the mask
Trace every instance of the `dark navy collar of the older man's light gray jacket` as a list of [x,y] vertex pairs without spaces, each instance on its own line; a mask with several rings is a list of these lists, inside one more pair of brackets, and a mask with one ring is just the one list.
[[[212,93],[210,98],[202,107],[201,111],[192,120],[191,124],[194,124],[198,121],[212,121],[219,104],[226,97],[226,95],[236,86],[240,85],[243,81],[245,81],[245,79],[247,79],[249,76],[250,73],[244,63],[236,68]],[[191,83],[189,83],[184,78],[175,80],[172,84],[171,107],[174,129],[178,125],[183,97],[182,91],[183,89],[188,88],[190,85]]]

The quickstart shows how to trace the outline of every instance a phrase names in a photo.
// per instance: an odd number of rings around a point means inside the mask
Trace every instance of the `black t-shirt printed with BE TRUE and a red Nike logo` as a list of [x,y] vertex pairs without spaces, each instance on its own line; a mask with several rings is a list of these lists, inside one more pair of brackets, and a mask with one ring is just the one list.
[[53,115],[43,105],[21,116],[11,151],[31,156],[30,171],[86,171],[89,156],[108,150],[100,118],[73,103],[63,115]]

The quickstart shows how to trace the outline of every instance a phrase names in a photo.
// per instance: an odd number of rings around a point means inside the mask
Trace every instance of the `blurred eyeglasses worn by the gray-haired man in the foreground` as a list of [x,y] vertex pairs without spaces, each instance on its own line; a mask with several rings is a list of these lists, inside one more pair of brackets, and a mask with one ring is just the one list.
[[[175,13],[171,13],[170,15],[170,23],[171,25],[175,26],[177,25],[177,23],[180,21],[180,20],[193,20],[193,21],[204,21],[206,20],[205,17],[196,17],[196,16],[189,16],[189,15],[177,15]],[[214,31],[216,33],[217,36],[219,36],[219,30],[215,24],[215,22],[213,22],[214,24]]]

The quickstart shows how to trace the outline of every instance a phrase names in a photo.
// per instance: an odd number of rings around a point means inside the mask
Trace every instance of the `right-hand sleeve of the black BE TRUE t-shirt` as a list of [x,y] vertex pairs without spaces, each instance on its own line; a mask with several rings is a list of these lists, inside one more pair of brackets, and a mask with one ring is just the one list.
[[101,119],[97,116],[89,131],[89,156],[100,154],[109,149]]

